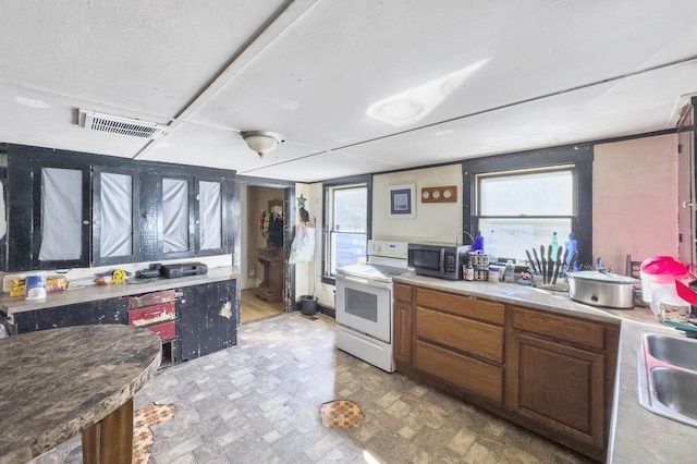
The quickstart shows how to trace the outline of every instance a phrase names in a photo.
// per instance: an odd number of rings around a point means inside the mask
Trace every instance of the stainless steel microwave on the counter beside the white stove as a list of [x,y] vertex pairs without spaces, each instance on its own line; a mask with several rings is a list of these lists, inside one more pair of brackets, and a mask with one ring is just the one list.
[[407,262],[418,276],[439,279],[462,279],[462,265],[467,262],[467,252],[472,245],[421,242],[409,243]]

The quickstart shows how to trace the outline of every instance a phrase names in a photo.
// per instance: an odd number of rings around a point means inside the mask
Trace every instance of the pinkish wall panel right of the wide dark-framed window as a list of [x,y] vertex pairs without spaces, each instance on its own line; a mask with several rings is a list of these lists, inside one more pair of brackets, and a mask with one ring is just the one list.
[[624,273],[634,261],[677,257],[677,136],[596,145],[592,253]]

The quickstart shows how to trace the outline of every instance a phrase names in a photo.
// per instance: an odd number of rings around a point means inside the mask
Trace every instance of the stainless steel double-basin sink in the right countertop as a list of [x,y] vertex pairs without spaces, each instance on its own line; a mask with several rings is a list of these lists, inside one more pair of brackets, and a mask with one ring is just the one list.
[[643,331],[637,356],[641,405],[697,427],[697,340]]

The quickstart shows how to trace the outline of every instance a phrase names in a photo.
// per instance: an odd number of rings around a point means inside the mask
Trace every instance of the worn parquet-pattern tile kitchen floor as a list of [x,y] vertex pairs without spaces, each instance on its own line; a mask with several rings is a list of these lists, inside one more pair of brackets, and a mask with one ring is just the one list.
[[[239,344],[160,370],[135,407],[176,405],[152,427],[151,463],[584,463],[583,456],[334,347],[334,321],[299,312],[240,327]],[[360,406],[332,429],[319,410]],[[75,437],[33,461],[81,462]]]

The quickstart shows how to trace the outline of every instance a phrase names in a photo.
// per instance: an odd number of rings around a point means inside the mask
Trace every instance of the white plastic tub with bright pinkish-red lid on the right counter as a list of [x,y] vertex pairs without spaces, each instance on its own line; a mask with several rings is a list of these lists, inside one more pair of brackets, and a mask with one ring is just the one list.
[[687,268],[671,256],[656,256],[641,262],[641,298],[649,304],[655,315],[663,304],[680,304],[675,281],[687,277]]

